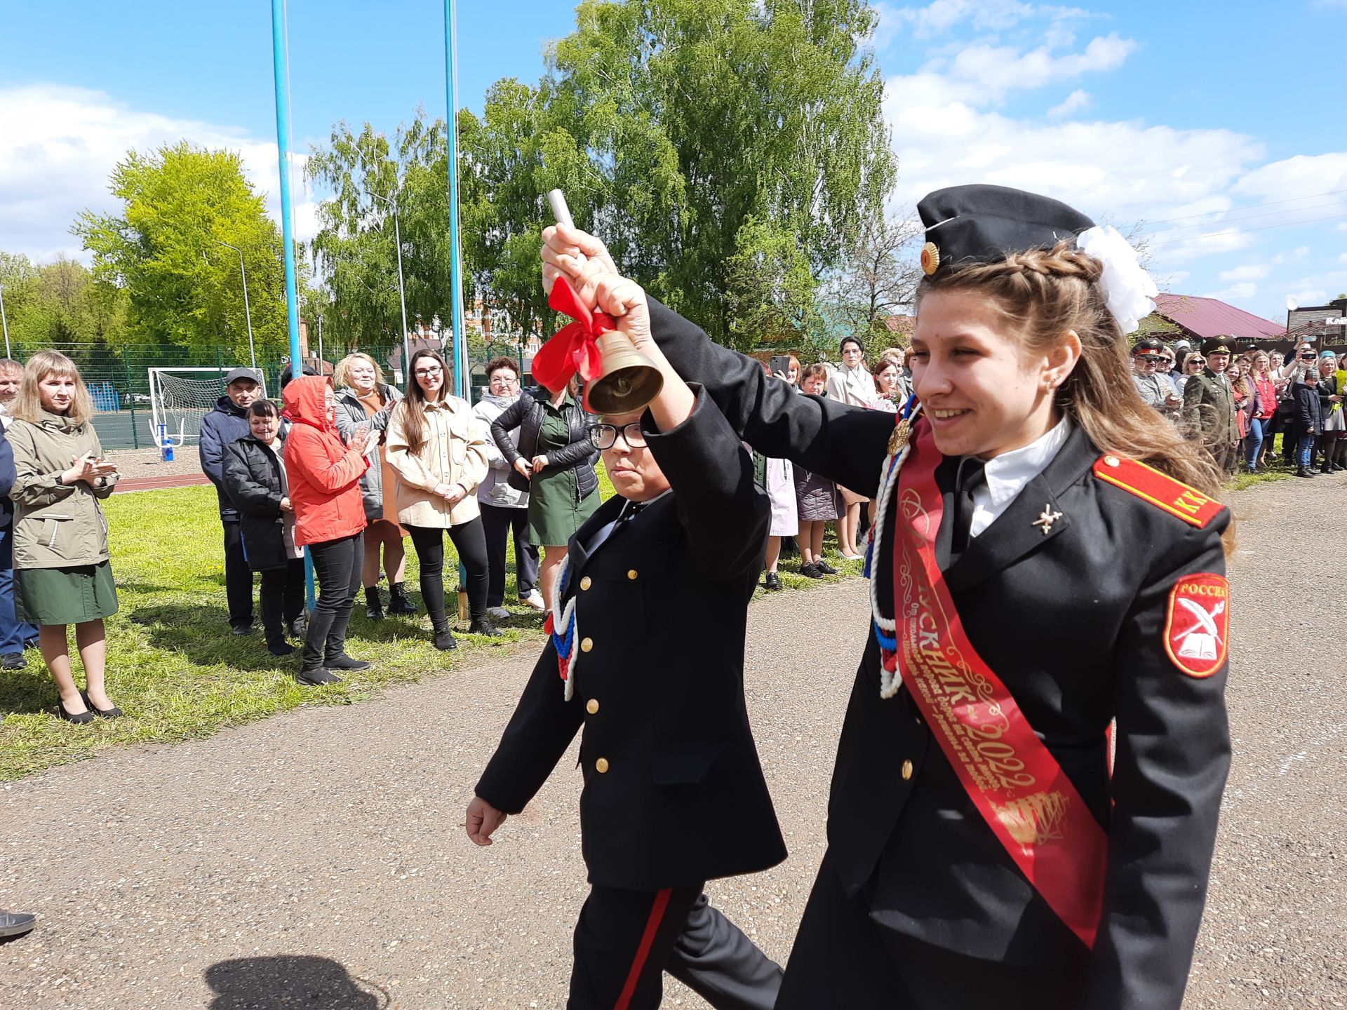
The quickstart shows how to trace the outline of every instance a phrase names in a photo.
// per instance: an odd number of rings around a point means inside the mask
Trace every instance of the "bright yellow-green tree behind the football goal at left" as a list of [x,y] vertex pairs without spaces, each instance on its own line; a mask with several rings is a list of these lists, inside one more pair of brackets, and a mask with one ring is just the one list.
[[247,360],[238,253],[257,353],[288,342],[286,279],[276,224],[244,178],[240,156],[187,141],[132,151],[112,172],[120,214],[85,211],[71,229],[93,253],[97,281],[125,291],[128,326],[151,343],[232,343]]

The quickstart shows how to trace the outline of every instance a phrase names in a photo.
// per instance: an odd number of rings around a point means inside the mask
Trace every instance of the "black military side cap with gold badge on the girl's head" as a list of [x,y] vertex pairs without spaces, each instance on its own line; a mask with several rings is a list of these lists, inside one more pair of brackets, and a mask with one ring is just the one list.
[[951,186],[917,203],[927,229],[921,269],[999,263],[1009,253],[1051,249],[1094,221],[1059,199],[1005,186]]

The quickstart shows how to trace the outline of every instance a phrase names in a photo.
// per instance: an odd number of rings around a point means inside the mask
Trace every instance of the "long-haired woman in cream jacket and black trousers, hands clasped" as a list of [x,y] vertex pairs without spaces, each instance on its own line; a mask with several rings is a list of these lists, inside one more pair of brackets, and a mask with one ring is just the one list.
[[467,571],[469,633],[497,636],[486,615],[486,536],[477,485],[486,477],[486,423],[446,389],[449,369],[432,350],[412,354],[412,381],[388,422],[384,458],[397,474],[397,521],[420,562],[420,590],[435,648],[455,648],[445,613],[445,531]]

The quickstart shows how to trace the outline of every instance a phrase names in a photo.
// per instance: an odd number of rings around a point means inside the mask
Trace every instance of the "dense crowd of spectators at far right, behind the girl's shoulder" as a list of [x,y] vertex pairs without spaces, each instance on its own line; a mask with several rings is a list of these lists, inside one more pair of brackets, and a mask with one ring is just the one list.
[[1289,360],[1280,351],[1246,347],[1215,337],[1193,350],[1156,338],[1137,341],[1133,384],[1141,399],[1184,434],[1202,440],[1227,475],[1259,473],[1281,458],[1297,477],[1347,465],[1343,395],[1347,370],[1335,351],[1300,342]]

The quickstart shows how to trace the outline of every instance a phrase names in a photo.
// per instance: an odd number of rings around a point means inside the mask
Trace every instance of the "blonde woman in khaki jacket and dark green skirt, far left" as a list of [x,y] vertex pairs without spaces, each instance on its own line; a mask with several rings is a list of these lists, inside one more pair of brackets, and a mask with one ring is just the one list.
[[[112,494],[117,467],[102,455],[89,391],[65,354],[44,350],[28,360],[12,415],[15,613],[39,625],[61,718],[113,719],[121,710],[104,687],[102,618],[117,613],[117,588],[98,500]],[[66,625],[75,626],[86,694],[70,672]]]

